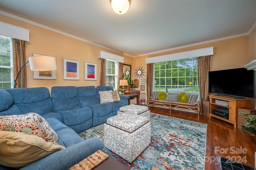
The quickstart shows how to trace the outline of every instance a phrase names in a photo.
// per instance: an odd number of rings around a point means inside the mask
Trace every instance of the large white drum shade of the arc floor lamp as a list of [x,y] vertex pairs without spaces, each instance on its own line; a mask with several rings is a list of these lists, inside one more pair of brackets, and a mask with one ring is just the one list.
[[56,57],[50,56],[33,56],[28,57],[30,69],[32,71],[50,71],[56,70]]

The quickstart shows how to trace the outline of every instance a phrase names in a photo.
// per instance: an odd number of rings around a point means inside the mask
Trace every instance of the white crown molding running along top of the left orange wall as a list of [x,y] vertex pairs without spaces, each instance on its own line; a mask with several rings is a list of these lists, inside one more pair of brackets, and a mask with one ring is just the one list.
[[110,47],[107,47],[107,46],[105,46],[105,45],[101,45],[101,44],[98,44],[98,43],[95,43],[95,42],[90,42],[90,41],[85,40],[85,39],[83,39],[83,38],[79,38],[79,37],[77,37],[77,36],[73,36],[73,35],[71,35],[71,34],[67,34],[67,33],[62,32],[62,31],[60,31],[60,30],[56,30],[56,29],[54,29],[54,28],[50,28],[50,27],[44,26],[44,25],[42,25],[42,24],[38,24],[38,23],[36,23],[36,22],[27,20],[27,19],[25,19],[25,18],[21,18],[21,17],[19,17],[19,16],[15,16],[15,15],[13,15],[13,14],[9,14],[9,13],[4,12],[4,11],[1,11],[1,10],[0,10],[0,14],[2,14],[2,15],[4,15],[4,16],[8,16],[8,17],[10,17],[10,18],[14,18],[14,19],[19,20],[19,21],[22,21],[22,22],[26,22],[26,23],[28,23],[28,24],[32,24],[32,25],[34,25],[34,26],[38,26],[38,27],[40,27],[40,28],[44,28],[44,29],[46,29],[46,30],[50,30],[50,31],[53,31],[53,32],[62,34],[62,35],[64,35],[64,36],[68,36],[68,37],[75,38],[75,39],[80,40],[80,41],[83,41],[83,42],[90,43],[90,44],[92,44],[92,45],[96,45],[96,46],[98,46],[98,47],[102,47],[102,48],[105,48],[105,49],[109,49],[109,50],[111,50],[111,51],[120,53],[120,54],[122,54],[122,55],[124,54],[124,52],[122,52],[122,51],[118,51],[118,50],[116,50],[116,49],[113,49],[113,48],[110,48]]

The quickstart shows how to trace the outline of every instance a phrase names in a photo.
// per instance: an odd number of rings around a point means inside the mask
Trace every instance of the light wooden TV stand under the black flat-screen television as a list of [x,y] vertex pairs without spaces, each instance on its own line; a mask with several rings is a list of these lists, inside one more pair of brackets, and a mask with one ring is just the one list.
[[[232,123],[235,128],[237,128],[237,108],[244,107],[244,108],[251,108],[252,107],[252,100],[251,99],[242,99],[242,98],[235,98],[231,96],[222,96],[222,95],[209,95],[210,97],[210,113],[209,117],[215,117],[222,121],[226,121],[228,123]],[[216,100],[228,101],[228,106],[223,106],[217,104]],[[228,109],[229,117],[228,119],[224,119],[217,115],[212,114],[212,109]]]

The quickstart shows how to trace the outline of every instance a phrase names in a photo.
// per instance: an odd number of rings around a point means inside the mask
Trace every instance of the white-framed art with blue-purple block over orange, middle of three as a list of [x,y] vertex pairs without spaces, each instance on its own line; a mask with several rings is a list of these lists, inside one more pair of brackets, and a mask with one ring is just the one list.
[[79,61],[63,59],[63,79],[79,80]]

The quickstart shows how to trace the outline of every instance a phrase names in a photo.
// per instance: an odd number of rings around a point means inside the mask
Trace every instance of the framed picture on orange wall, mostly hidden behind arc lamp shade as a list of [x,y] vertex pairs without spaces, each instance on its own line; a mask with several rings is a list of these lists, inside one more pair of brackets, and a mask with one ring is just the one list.
[[[33,53],[33,56],[42,56],[42,54]],[[56,60],[56,57],[54,57]],[[33,71],[33,79],[53,79],[56,80],[56,70],[52,71]]]

